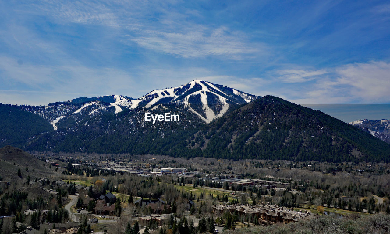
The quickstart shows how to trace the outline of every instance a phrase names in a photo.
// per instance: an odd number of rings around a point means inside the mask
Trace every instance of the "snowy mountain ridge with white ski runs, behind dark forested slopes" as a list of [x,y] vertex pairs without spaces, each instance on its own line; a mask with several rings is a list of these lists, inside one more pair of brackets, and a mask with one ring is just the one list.
[[108,95],[93,98],[80,97],[69,101],[50,103],[44,107],[22,106],[48,120],[54,130],[69,124],[78,124],[83,118],[103,113],[118,114],[123,110],[144,108],[154,111],[167,109],[166,105],[179,105],[197,115],[204,123],[221,117],[230,107],[248,103],[257,96],[237,89],[213,84],[202,80],[193,80],[179,87],[153,90],[134,99],[128,96]]

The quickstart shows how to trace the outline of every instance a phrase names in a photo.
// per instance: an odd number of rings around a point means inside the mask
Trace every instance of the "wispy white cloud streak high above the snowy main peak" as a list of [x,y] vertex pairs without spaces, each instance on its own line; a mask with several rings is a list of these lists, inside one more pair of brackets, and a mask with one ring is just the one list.
[[139,37],[129,40],[147,49],[183,58],[224,56],[225,59],[242,60],[266,52],[266,46],[245,42],[239,35],[230,35],[228,31],[226,27],[214,30],[188,28],[183,33],[143,31]]

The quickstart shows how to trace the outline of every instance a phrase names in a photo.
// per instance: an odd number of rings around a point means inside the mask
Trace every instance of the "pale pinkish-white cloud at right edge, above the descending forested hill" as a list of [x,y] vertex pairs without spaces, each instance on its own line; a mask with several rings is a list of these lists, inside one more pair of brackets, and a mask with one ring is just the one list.
[[333,68],[314,84],[287,91],[300,104],[390,103],[390,63],[371,61]]

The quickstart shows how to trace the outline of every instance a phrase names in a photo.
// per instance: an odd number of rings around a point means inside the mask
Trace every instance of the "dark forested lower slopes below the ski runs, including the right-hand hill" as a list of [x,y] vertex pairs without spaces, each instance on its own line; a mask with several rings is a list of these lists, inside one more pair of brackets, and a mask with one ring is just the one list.
[[[29,150],[161,154],[174,157],[389,161],[390,145],[322,112],[266,96],[203,124],[184,105],[165,104],[179,122],[144,121],[144,108],[87,116],[30,141]],[[199,130],[200,129],[200,130]]]

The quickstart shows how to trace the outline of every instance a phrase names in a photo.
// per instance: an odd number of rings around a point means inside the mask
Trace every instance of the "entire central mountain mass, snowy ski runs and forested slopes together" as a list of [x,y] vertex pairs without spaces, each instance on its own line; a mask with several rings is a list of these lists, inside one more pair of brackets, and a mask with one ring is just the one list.
[[[3,110],[7,110],[4,111]],[[175,157],[388,161],[390,145],[322,112],[207,81],[47,106],[0,105],[0,147]],[[152,115],[180,115],[155,124]],[[20,134],[16,129],[23,129]]]

